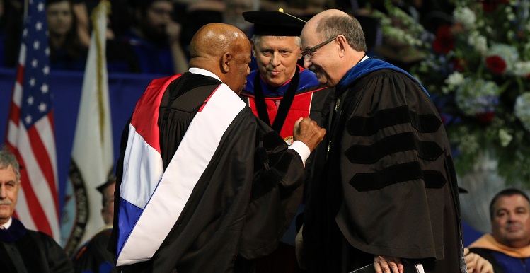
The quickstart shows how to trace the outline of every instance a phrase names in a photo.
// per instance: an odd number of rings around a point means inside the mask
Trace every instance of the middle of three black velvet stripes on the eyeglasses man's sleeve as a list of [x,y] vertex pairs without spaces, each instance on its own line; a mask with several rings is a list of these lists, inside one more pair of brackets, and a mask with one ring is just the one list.
[[434,141],[420,141],[411,132],[388,136],[372,145],[352,145],[346,150],[351,163],[372,164],[384,156],[401,151],[417,150],[418,156],[426,161],[434,161],[444,151]]

